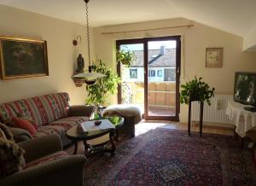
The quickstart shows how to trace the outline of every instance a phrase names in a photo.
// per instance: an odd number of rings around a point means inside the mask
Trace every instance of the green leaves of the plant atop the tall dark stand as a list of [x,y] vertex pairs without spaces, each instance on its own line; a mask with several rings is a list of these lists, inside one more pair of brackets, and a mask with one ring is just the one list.
[[209,87],[209,85],[203,81],[202,78],[192,79],[190,82],[186,82],[186,84],[181,85],[181,93],[180,93],[180,102],[189,104],[192,101],[207,101],[208,105],[211,105],[210,98],[214,96],[214,90]]

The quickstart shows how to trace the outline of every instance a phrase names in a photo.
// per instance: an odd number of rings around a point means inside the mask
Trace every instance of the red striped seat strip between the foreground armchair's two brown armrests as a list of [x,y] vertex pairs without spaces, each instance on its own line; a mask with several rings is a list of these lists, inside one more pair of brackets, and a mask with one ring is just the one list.
[[45,164],[45,163],[51,162],[53,160],[59,160],[61,158],[67,157],[67,155],[68,154],[65,151],[59,151],[59,152],[56,152],[54,154],[49,154],[49,155],[44,156],[44,157],[42,157],[38,160],[34,160],[34,161],[29,162],[28,164],[23,166],[23,170],[32,168],[34,166]]

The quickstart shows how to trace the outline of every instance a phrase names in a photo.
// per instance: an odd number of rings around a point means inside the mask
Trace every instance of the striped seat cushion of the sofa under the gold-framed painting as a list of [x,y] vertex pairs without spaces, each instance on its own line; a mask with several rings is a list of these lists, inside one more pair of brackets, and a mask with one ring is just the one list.
[[43,137],[50,134],[58,134],[64,136],[66,131],[73,127],[73,125],[79,125],[84,121],[88,121],[88,117],[67,117],[63,119],[58,119],[49,125],[44,125],[38,127],[38,132],[35,137]]

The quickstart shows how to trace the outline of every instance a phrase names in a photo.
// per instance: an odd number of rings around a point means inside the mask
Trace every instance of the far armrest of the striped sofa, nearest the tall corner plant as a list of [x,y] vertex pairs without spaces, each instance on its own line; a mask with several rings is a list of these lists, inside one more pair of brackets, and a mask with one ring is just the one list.
[[73,105],[70,108],[70,116],[87,116],[91,117],[96,110],[96,106],[92,105]]

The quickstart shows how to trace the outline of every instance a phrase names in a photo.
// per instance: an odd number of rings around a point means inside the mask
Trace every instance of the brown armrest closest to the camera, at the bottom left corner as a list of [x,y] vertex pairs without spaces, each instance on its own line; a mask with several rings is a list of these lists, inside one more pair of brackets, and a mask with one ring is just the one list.
[[3,177],[0,179],[0,185],[82,186],[85,160],[84,155],[67,156]]

